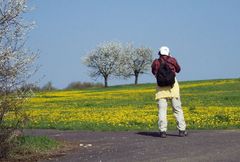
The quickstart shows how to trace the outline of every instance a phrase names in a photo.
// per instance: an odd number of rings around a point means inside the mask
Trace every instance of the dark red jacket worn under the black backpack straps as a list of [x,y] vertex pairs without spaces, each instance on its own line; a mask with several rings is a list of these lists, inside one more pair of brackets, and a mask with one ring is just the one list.
[[[179,64],[177,63],[177,60],[174,57],[171,56],[166,56],[166,55],[160,55],[161,60],[165,61],[169,67],[171,68],[171,70],[175,73],[179,73],[181,70],[181,67],[179,66]],[[153,75],[157,74],[157,71],[160,67],[160,62],[159,59],[155,59],[152,63],[152,73]]]

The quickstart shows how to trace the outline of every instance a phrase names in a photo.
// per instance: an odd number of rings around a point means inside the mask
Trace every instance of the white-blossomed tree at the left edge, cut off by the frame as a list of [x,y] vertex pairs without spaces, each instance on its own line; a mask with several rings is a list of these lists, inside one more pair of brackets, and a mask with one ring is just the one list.
[[[5,116],[15,116],[17,127],[23,120],[21,108],[29,91],[21,90],[35,72],[37,54],[26,49],[26,35],[33,23],[24,21],[27,0],[0,0],[0,128],[6,127]],[[2,150],[0,150],[2,151]],[[3,156],[3,155],[0,155]]]

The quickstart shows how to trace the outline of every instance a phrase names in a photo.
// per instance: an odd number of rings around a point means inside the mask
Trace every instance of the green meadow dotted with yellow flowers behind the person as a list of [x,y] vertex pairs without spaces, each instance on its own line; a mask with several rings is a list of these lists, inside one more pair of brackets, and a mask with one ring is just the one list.
[[[186,111],[186,120],[190,129],[225,129],[240,128],[236,119],[240,118],[240,79],[219,79],[203,81],[180,82],[180,93],[182,106]],[[40,92],[36,98],[47,99],[44,102],[27,105],[29,110],[47,110],[46,113],[38,114],[36,123],[30,122],[28,128],[54,128],[74,130],[156,130],[157,109],[155,97],[156,84],[120,85],[108,88],[90,88],[85,90]],[[142,92],[144,91],[144,92]],[[69,94],[66,96],[66,94]],[[74,94],[83,94],[84,97],[72,97]],[[99,97],[100,96],[100,97]],[[151,116],[152,123],[140,119],[122,119],[120,125],[113,125],[107,120],[111,117],[105,116],[109,112],[130,107],[129,110],[136,110],[136,114],[125,114],[129,118],[134,116]],[[150,109],[148,108],[150,107]],[[217,108],[217,109],[216,109]],[[201,109],[211,111],[208,116],[201,112]],[[139,111],[144,113],[139,114]],[[238,111],[239,110],[239,111]],[[231,111],[232,114],[225,111]],[[46,120],[49,114],[58,112],[54,121]],[[105,121],[93,122],[83,117],[70,119],[74,113],[98,113],[103,114]],[[117,113],[117,112],[116,112]],[[168,114],[172,112],[169,110]],[[119,114],[121,116],[121,114]],[[112,114],[114,116],[114,114]],[[53,116],[55,117],[55,116]],[[116,116],[118,118],[119,116]],[[36,118],[36,117],[35,117]],[[33,118],[33,120],[35,119]],[[120,117],[119,117],[120,118]],[[125,122],[124,120],[128,120]],[[200,120],[198,123],[197,120]],[[210,122],[210,123],[208,123]],[[211,123],[212,122],[212,123]],[[169,128],[175,129],[175,121],[169,121]]]

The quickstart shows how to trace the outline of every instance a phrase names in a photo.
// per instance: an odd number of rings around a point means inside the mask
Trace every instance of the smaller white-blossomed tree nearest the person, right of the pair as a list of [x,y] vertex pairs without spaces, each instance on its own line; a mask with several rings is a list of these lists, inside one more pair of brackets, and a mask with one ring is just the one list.
[[132,44],[128,44],[125,46],[120,60],[118,74],[124,78],[134,76],[134,83],[138,84],[139,75],[149,70],[152,62],[152,50],[146,47],[135,48]]

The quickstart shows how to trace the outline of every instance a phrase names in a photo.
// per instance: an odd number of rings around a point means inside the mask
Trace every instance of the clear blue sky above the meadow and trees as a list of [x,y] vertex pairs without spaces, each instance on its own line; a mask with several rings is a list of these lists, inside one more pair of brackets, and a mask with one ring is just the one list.
[[[29,0],[37,26],[28,47],[39,50],[34,79],[64,88],[88,76],[82,58],[104,41],[170,48],[182,67],[178,80],[240,77],[239,0]],[[110,79],[109,84],[133,83]],[[140,83],[155,82],[150,74]]]

